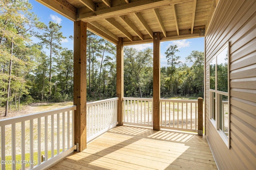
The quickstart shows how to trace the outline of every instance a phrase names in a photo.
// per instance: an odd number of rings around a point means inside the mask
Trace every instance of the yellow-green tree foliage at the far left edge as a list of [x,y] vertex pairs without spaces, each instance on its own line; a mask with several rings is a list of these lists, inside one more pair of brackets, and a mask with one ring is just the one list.
[[31,9],[28,0],[0,3],[0,102],[6,105],[5,115],[9,104],[14,101],[17,108],[22,96],[29,94],[26,76],[34,67],[30,37],[33,28],[42,25]]

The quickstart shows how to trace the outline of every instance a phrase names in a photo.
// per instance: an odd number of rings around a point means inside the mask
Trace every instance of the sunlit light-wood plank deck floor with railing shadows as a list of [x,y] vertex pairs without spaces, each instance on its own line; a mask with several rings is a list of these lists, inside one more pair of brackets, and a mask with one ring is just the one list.
[[217,169],[206,137],[192,133],[117,126],[50,170]]

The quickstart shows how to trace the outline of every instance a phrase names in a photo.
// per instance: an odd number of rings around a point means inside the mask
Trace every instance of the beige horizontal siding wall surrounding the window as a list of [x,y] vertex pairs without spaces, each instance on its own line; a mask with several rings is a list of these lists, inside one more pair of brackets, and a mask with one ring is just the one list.
[[[220,170],[256,168],[256,1],[225,0],[205,37],[206,137]],[[209,61],[230,41],[230,149],[209,119]]]

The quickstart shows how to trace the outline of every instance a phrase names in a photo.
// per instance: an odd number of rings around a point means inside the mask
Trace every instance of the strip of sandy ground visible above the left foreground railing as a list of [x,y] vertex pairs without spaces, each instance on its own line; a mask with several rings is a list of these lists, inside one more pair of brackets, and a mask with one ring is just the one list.
[[33,104],[30,104],[27,106],[22,106],[20,108],[20,111],[14,111],[14,109],[12,111],[9,110],[7,117],[4,117],[5,107],[0,107],[0,119],[6,119],[6,118],[10,118],[10,117],[38,113],[38,112],[47,111],[47,110],[54,110],[54,109],[68,107],[68,106],[72,106],[72,105],[73,105],[73,102],[33,103]]

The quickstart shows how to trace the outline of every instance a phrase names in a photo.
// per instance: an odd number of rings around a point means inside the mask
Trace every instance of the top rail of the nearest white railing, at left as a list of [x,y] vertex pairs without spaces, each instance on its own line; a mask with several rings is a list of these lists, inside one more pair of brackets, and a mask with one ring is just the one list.
[[39,112],[39,113],[32,113],[29,115],[22,115],[19,117],[10,117],[7,119],[1,119],[0,120],[0,126],[4,126],[4,125],[10,125],[13,123],[18,123],[21,121],[28,121],[31,119],[36,119],[39,117],[45,117],[48,115],[53,115],[56,113],[62,113],[64,111],[70,111],[70,110],[76,110],[76,106],[69,106],[69,107],[64,107],[64,108],[60,108],[60,109],[54,109],[54,110],[49,110],[49,111],[43,111],[43,112]]

